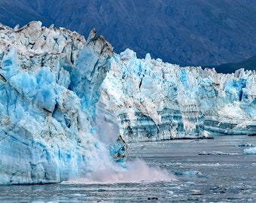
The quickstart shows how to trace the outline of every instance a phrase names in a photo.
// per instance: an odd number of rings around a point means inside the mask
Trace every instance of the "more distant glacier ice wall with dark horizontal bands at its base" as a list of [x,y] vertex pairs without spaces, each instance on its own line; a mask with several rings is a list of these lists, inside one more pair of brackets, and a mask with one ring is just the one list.
[[116,129],[127,141],[256,132],[255,71],[217,74],[164,63],[149,54],[137,59],[127,49],[112,57],[101,89],[99,123],[113,126],[117,121]]

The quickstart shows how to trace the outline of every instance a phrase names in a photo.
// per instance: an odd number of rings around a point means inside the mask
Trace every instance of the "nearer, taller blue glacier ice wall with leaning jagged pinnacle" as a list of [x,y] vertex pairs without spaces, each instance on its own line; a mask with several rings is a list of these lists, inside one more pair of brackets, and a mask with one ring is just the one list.
[[40,22],[0,30],[0,184],[56,183],[114,167],[88,119],[111,45],[94,29],[87,41]]

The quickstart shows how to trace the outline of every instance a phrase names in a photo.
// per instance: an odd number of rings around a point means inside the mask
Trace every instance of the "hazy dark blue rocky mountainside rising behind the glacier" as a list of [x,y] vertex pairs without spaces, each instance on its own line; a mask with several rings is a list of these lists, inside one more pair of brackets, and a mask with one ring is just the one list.
[[[31,20],[88,35],[96,27],[120,53],[178,65],[213,66],[256,54],[256,2],[248,0],[29,1],[2,0],[0,21],[14,27]],[[242,67],[239,67],[242,68]]]

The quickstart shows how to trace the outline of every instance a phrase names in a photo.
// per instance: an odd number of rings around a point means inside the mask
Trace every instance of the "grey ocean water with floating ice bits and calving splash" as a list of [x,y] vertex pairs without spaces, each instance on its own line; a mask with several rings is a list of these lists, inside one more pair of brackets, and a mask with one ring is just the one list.
[[0,202],[256,202],[256,155],[243,153],[246,144],[256,137],[130,144],[122,174],[0,186]]

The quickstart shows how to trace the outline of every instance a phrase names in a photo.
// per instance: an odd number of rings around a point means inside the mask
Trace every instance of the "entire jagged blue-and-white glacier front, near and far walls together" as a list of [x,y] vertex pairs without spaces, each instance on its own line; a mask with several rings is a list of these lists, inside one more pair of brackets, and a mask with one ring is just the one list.
[[0,46],[0,184],[123,170],[125,142],[256,132],[255,71],[137,59],[38,21],[0,24]]

